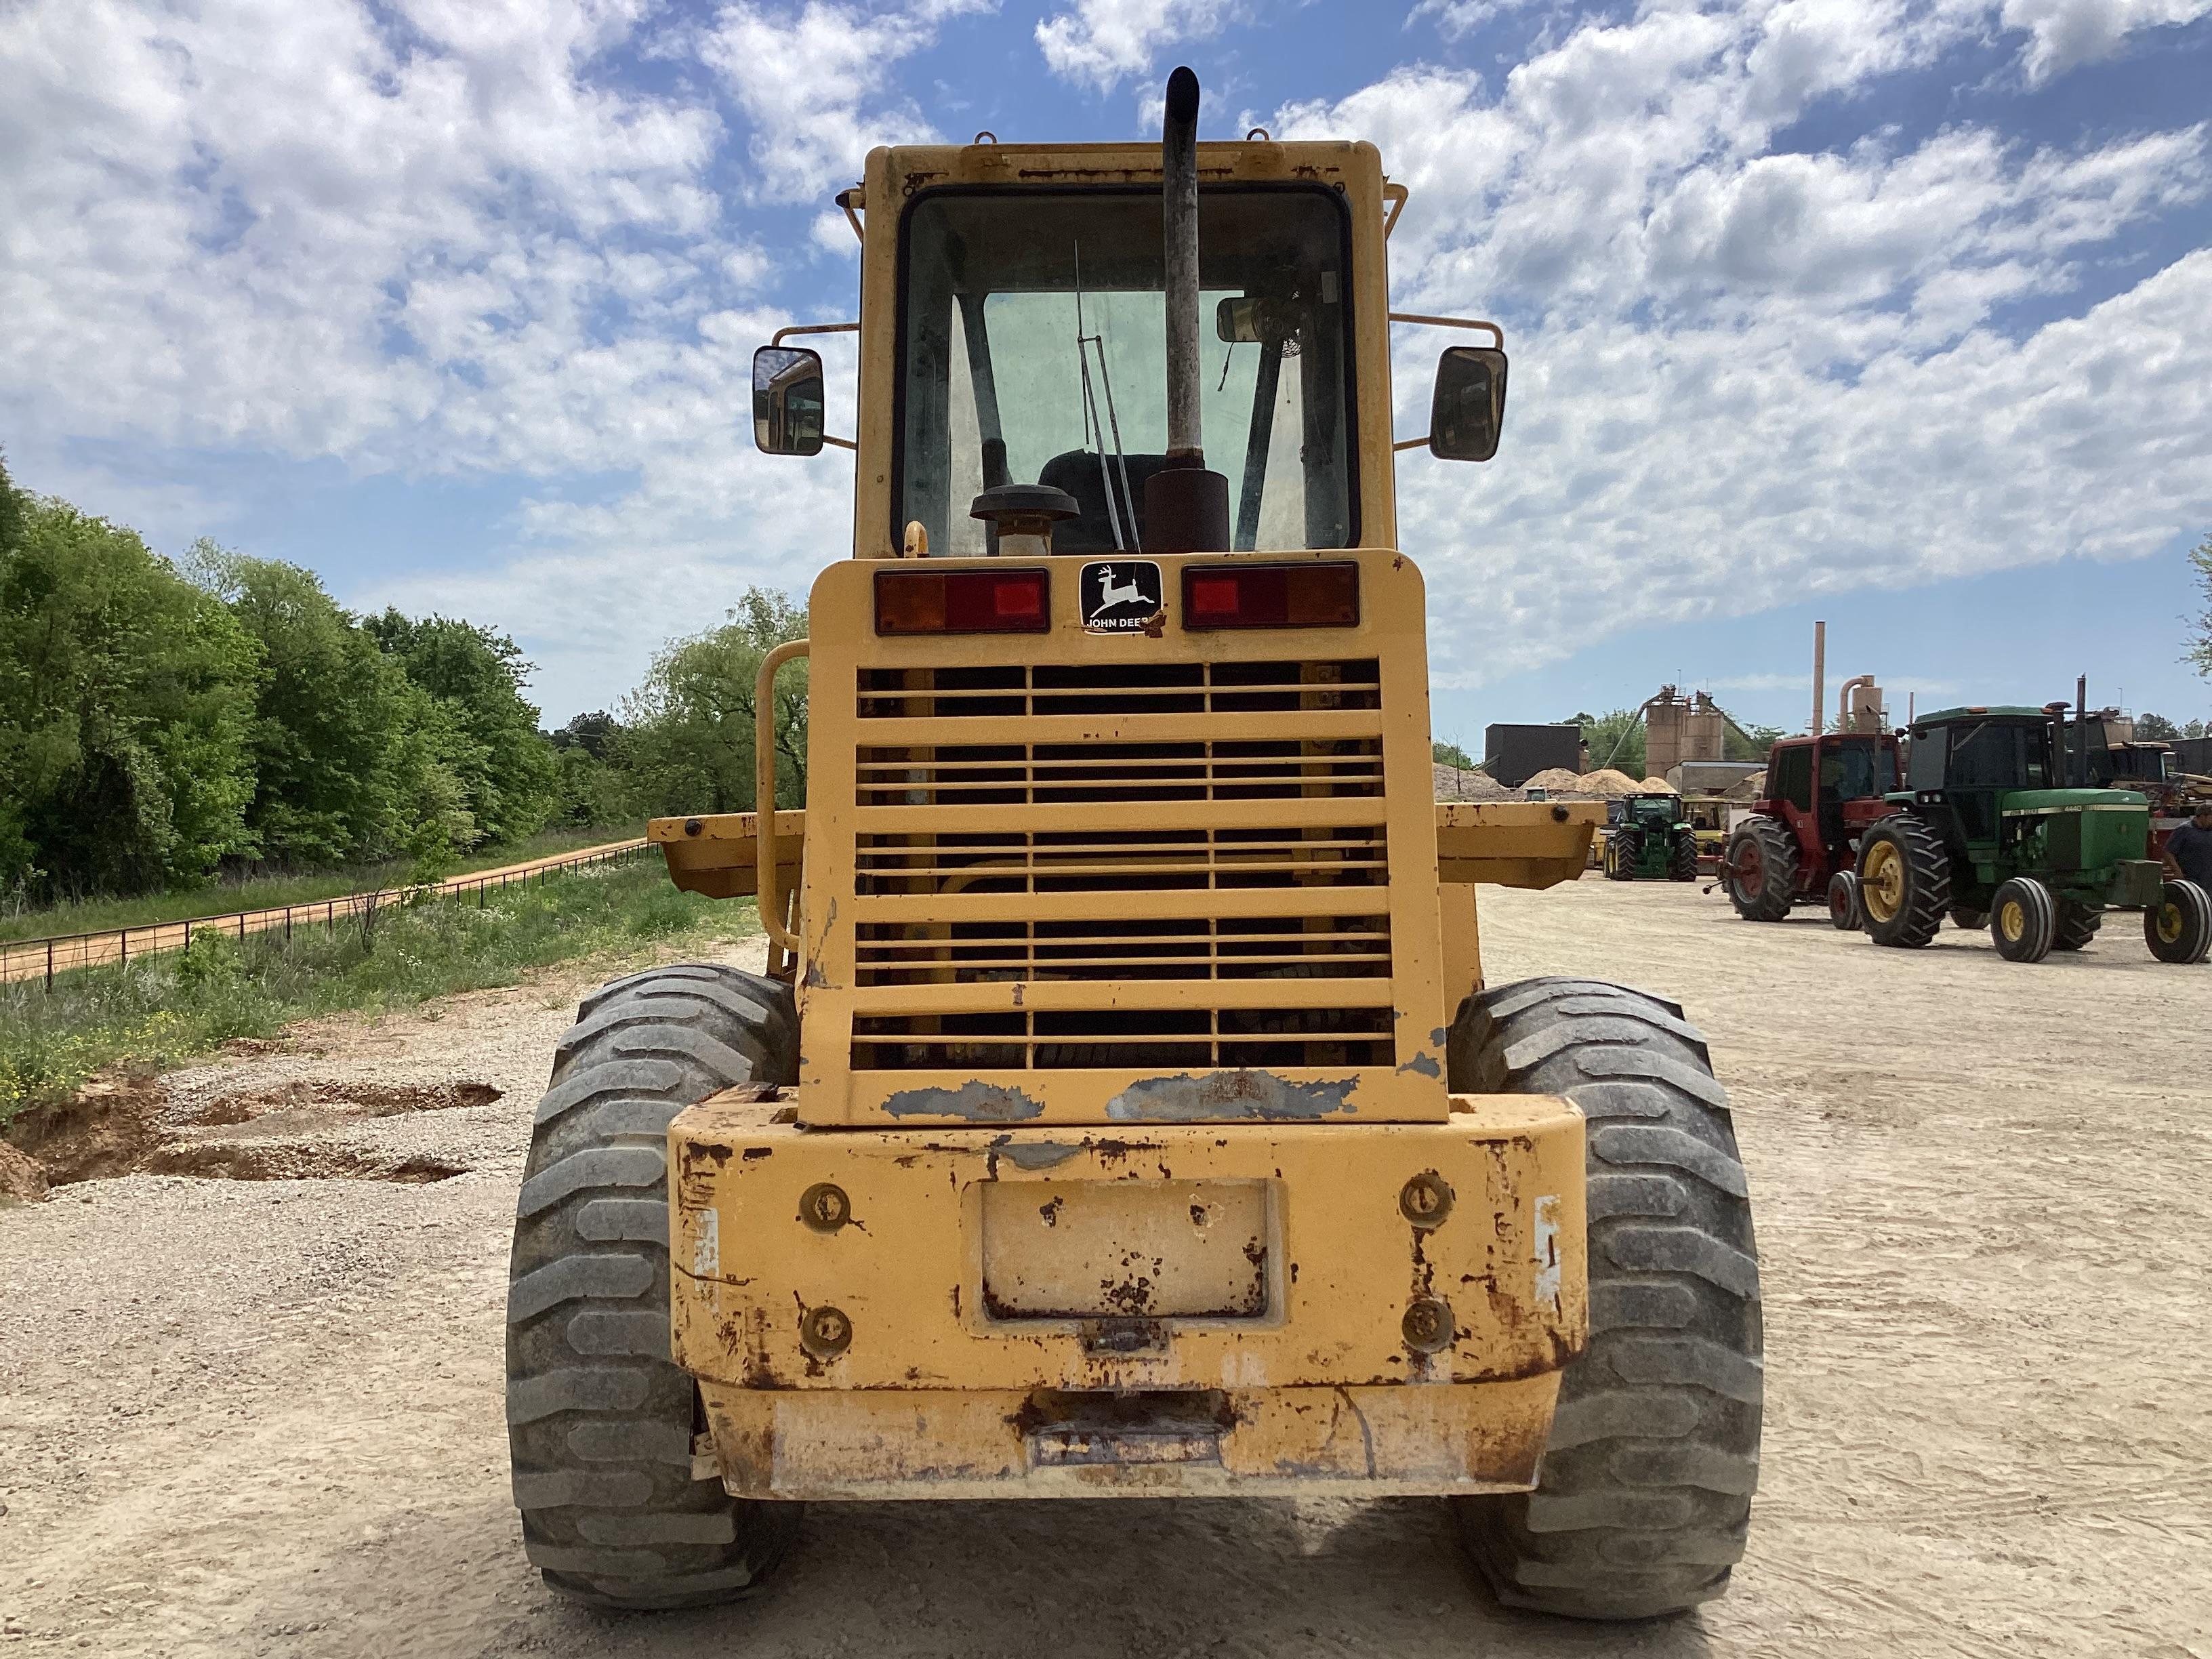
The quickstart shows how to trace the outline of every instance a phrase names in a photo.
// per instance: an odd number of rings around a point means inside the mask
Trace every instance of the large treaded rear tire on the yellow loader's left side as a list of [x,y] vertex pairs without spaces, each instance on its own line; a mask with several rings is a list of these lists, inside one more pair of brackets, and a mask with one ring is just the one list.
[[699,1396],[668,1358],[668,1119],[796,1079],[792,993],[730,967],[615,980],[553,1051],[515,1206],[507,1440],[522,1546],[564,1595],[726,1601],[790,1546],[799,1504],[692,1478]]

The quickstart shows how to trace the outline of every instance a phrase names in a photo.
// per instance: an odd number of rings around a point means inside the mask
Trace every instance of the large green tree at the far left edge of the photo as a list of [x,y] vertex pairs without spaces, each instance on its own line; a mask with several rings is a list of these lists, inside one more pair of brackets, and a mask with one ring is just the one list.
[[252,637],[133,531],[0,493],[0,885],[206,878],[252,845]]

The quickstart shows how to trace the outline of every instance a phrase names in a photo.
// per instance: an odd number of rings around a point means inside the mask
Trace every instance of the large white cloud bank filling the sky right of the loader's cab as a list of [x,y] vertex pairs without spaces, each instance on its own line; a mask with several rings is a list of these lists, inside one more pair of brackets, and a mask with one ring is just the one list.
[[[1407,69],[1279,135],[1360,133],[1413,188],[1394,299],[1504,312],[1491,467],[1400,469],[1438,679],[1475,686],[1621,626],[1747,615],[2064,555],[2130,557],[2212,513],[2192,254],[2081,316],[2084,265],[2212,188],[2205,128],[2037,150],[1982,128],[1772,150],[1809,100],[1931,62],[1978,20],[1652,9],[1586,24],[1495,97]],[[1887,22],[1885,22],[1887,20]],[[1840,35],[1836,40],[1843,40]],[[2062,321],[2026,334],[2000,307]],[[1418,431],[1438,338],[1398,332]]]

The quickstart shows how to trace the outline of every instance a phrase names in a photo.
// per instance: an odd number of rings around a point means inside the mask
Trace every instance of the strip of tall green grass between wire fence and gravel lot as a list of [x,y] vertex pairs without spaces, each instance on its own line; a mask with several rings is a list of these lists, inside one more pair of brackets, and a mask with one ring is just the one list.
[[648,958],[748,936],[759,936],[752,900],[681,894],[659,860],[493,889],[482,909],[473,896],[392,902],[290,940],[199,933],[144,964],[66,973],[53,991],[38,980],[0,987],[0,1124],[102,1066],[175,1066],[307,1015],[411,1006],[584,956]]

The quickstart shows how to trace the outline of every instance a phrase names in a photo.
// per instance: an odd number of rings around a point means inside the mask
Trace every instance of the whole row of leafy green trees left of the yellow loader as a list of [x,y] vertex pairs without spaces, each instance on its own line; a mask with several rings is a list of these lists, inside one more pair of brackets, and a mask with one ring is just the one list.
[[[664,648],[619,708],[540,730],[495,628],[356,615],[296,564],[131,529],[0,467],[0,896],[18,905],[403,858],[434,872],[557,825],[752,805],[761,655],[783,595]],[[805,664],[776,697],[805,787]]]

